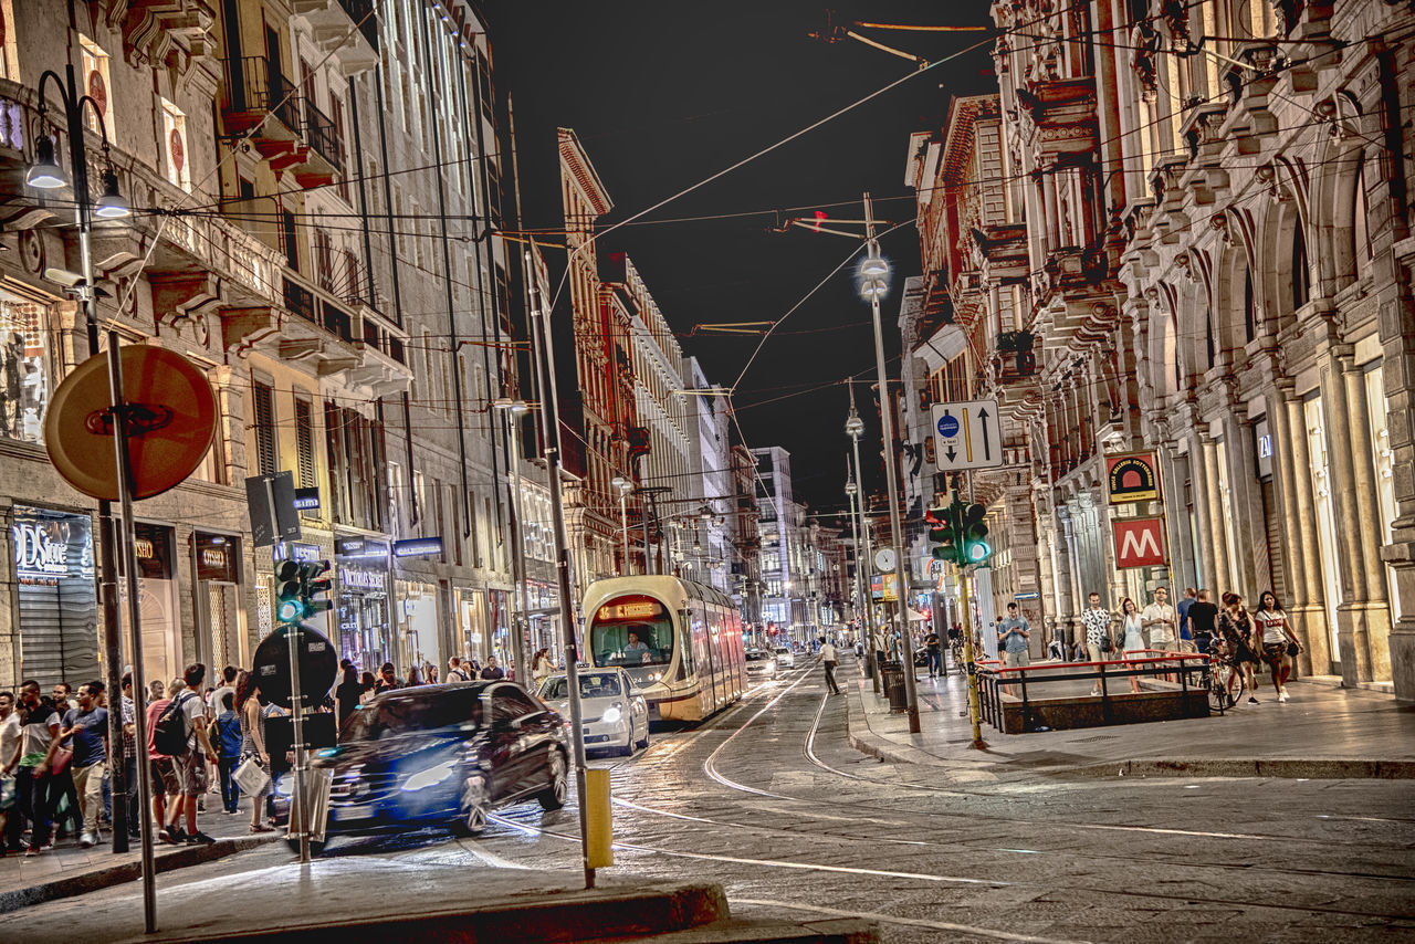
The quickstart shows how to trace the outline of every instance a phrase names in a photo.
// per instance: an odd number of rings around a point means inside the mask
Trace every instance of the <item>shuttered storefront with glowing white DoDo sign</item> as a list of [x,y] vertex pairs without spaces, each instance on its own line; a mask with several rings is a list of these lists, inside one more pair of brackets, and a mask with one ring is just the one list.
[[20,627],[17,678],[33,678],[42,691],[59,681],[78,688],[98,678],[92,518],[16,505],[11,535]]

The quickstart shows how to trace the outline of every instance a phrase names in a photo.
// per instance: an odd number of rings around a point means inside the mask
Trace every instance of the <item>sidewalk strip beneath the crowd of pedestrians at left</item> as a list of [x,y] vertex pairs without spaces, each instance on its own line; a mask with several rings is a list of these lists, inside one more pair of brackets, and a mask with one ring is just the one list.
[[[212,862],[233,852],[252,849],[284,836],[284,829],[276,832],[250,832],[250,807],[242,804],[235,815],[221,812],[221,797],[207,797],[207,812],[200,814],[197,827],[216,842],[209,846],[173,846],[156,842],[154,859],[158,872],[180,869],[201,862]],[[212,812],[215,811],[215,812]],[[125,882],[137,882],[142,876],[142,845],[129,841],[129,851],[115,855],[109,832],[103,842],[89,849],[69,838],[61,839],[54,849],[37,856],[11,852],[0,858],[0,914],[52,899],[83,894]]]

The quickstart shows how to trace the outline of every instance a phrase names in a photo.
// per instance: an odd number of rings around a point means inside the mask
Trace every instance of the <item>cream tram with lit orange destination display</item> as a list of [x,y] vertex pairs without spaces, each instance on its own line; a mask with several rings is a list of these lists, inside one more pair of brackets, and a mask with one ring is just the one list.
[[649,720],[696,722],[741,698],[747,660],[732,597],[678,577],[596,580],[584,594],[589,662],[623,667]]

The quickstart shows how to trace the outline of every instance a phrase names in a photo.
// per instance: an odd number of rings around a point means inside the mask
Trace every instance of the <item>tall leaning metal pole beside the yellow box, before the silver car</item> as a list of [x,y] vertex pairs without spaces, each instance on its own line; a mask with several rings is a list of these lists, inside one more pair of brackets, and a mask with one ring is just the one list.
[[[565,640],[565,675],[570,689],[570,743],[574,749],[574,794],[580,807],[580,858],[584,865],[584,887],[594,887],[590,868],[589,810],[584,795],[584,713],[580,708],[580,647],[574,635],[574,607],[570,603],[570,551],[565,536],[565,508],[560,505],[560,437],[559,406],[555,395],[553,364],[550,358],[550,317],[541,309],[539,292],[531,292],[531,341],[541,365],[538,382],[541,422],[545,429],[545,463],[550,473],[550,521],[555,529],[556,569],[560,582],[560,633]],[[645,555],[648,545],[645,542]]]

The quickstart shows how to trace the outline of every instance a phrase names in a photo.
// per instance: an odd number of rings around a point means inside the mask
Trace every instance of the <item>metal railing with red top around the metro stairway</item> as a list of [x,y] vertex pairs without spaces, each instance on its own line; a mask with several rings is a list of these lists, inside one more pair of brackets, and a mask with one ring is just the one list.
[[[1162,650],[1146,650],[1159,655],[1145,658],[1118,660],[1112,662],[1040,662],[1019,668],[1002,668],[992,661],[978,662],[978,695],[982,719],[1005,730],[1002,698],[1012,696],[1012,689],[1019,691],[1022,702],[1022,730],[1036,730],[1033,719],[1033,705],[1043,701],[1037,695],[1039,686],[1056,682],[1090,681],[1101,689],[1099,695],[1092,695],[1101,701],[1101,718],[1104,723],[1114,723],[1114,712],[1108,682],[1111,679],[1125,679],[1138,677],[1177,677],[1179,691],[1184,701],[1189,699],[1189,689],[1204,691],[1208,677],[1208,655],[1194,652],[1165,652]],[[1058,672],[1058,669],[1061,669]],[[1044,674],[1043,674],[1044,672]],[[1197,674],[1199,678],[1190,677]],[[1029,678],[1029,675],[1032,678]],[[1094,689],[1092,689],[1094,691]],[[1133,692],[1124,692],[1133,695]]]

